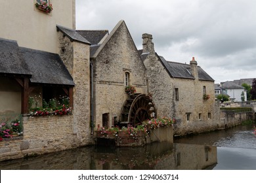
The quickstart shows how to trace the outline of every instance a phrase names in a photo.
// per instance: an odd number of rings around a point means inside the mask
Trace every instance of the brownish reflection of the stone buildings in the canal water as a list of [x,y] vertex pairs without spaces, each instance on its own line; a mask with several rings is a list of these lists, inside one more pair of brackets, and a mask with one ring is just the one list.
[[28,159],[0,162],[0,169],[212,169],[215,146],[154,143],[136,148],[87,146]]

